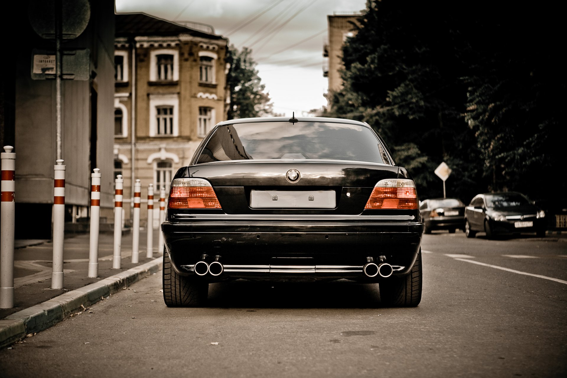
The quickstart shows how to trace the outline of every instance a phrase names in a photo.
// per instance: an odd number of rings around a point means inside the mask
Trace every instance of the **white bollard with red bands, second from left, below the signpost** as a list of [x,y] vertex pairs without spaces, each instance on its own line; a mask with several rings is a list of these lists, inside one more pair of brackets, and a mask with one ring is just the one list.
[[58,159],[53,167],[53,273],[51,288],[63,288],[63,241],[65,239],[65,160]]

